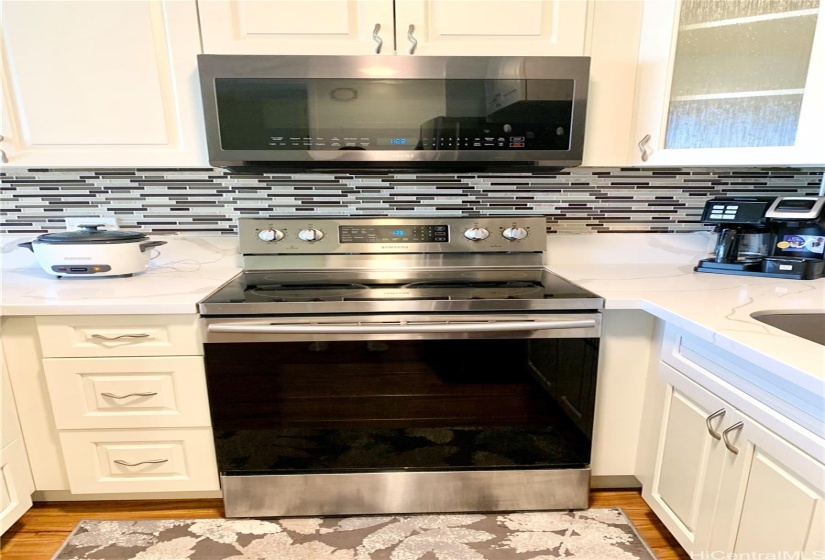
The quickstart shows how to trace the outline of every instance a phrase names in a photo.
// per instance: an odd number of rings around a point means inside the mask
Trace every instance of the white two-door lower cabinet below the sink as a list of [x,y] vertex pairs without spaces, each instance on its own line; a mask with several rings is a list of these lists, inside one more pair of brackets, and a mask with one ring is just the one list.
[[642,496],[690,553],[825,550],[825,464],[667,364]]

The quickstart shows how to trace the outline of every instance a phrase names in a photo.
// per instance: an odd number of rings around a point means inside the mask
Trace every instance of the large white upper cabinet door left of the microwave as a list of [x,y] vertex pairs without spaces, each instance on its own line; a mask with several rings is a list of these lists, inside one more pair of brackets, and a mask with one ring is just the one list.
[[5,0],[14,166],[202,165],[195,0]]

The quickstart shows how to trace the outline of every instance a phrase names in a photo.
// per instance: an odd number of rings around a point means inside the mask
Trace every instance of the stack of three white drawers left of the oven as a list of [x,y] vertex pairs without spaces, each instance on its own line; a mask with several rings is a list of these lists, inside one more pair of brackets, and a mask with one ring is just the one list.
[[219,489],[196,316],[36,324],[73,494]]

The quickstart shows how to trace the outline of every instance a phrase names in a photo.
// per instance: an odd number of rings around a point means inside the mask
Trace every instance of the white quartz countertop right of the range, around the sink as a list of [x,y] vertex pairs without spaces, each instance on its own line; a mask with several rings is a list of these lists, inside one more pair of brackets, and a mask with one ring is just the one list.
[[825,347],[751,316],[825,311],[825,278],[694,272],[706,234],[573,237],[550,236],[548,268],[604,297],[606,309],[647,311],[825,400]]

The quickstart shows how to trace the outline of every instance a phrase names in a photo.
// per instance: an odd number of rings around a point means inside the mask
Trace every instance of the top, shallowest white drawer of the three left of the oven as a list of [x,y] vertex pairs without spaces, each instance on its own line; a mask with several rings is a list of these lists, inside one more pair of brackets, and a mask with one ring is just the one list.
[[195,315],[37,317],[46,358],[202,355]]

